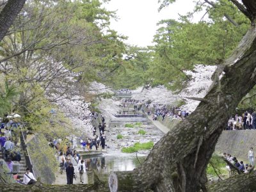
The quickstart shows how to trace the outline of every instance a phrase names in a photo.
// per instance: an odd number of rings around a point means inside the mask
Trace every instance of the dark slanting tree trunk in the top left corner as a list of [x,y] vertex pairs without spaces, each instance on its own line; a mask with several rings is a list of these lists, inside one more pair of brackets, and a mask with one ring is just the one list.
[[26,0],[8,0],[0,13],[0,42],[24,6]]

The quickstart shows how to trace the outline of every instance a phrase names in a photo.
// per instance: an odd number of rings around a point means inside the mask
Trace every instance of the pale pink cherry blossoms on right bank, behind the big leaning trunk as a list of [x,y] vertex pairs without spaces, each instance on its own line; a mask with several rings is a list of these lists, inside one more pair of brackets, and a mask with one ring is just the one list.
[[186,100],[186,104],[181,106],[181,109],[192,112],[198,106],[199,101],[187,99],[186,97],[204,98],[209,87],[211,86],[211,76],[216,69],[216,66],[196,65],[193,71],[185,71],[188,76],[191,76],[188,86],[179,94],[174,94],[167,90],[164,86],[155,88],[138,88],[132,92],[132,99],[140,100],[140,102],[152,101],[152,104],[175,105],[178,100]]

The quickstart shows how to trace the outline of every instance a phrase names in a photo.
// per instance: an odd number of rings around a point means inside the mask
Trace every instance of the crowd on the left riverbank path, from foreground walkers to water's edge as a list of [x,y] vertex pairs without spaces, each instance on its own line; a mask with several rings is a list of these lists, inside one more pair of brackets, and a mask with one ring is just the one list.
[[55,138],[49,143],[52,148],[56,148],[56,158],[60,164],[60,173],[66,173],[67,184],[73,184],[78,173],[80,182],[87,183],[86,169],[88,167],[86,166],[83,157],[80,156],[76,150],[76,148],[79,148],[77,141],[80,141],[81,150],[92,150],[93,146],[95,146],[96,150],[98,150],[99,147],[105,149],[106,136],[104,132],[106,131],[106,120],[104,116],[97,116],[97,118],[99,117],[101,117],[98,126],[99,136],[97,135],[97,128],[93,127],[92,137],[90,138],[72,138],[70,140],[68,140],[68,138],[64,138],[63,140]]

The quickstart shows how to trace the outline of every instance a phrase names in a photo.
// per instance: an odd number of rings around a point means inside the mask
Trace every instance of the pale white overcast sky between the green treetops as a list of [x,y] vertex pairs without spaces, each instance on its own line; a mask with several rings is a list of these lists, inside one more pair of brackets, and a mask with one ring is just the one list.
[[185,15],[187,12],[192,12],[193,1],[177,0],[161,12],[158,12],[160,6],[158,0],[111,0],[105,8],[109,11],[117,10],[116,15],[119,19],[111,20],[111,29],[128,36],[126,43],[146,47],[152,45],[159,20],[179,19],[179,14]]

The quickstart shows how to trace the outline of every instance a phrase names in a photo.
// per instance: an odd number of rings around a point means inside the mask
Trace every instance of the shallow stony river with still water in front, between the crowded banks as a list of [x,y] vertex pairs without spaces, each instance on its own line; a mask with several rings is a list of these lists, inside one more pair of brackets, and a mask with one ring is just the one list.
[[[120,114],[126,115],[123,111]],[[129,111],[131,114],[131,111]],[[134,112],[133,112],[134,114]],[[129,125],[129,126],[127,126]],[[140,134],[139,131],[143,131]],[[147,143],[152,141],[157,143],[164,135],[155,127],[146,116],[130,116],[113,118],[110,120],[106,134],[106,152],[101,156],[86,157],[86,173],[84,173],[83,184],[93,183],[93,172],[97,174],[100,180],[108,180],[111,172],[131,171],[143,163],[150,150],[143,150],[136,153],[126,154],[121,150],[124,147],[131,147],[135,143]],[[122,138],[117,138],[117,135]],[[93,147],[94,148],[94,147]],[[65,173],[57,173],[55,184],[66,184]],[[81,184],[79,172],[76,173],[74,184]]]

